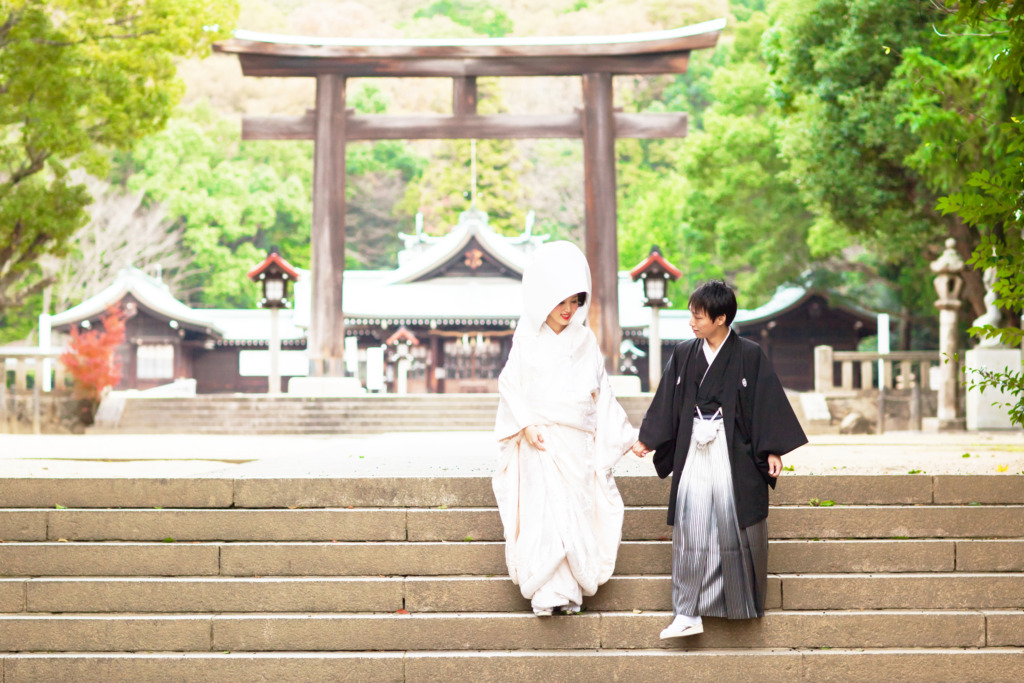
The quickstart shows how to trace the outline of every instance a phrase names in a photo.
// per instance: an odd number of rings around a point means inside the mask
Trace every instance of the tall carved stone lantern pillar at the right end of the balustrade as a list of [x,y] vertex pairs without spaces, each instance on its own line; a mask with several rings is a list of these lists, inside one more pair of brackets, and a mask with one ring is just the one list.
[[963,270],[964,260],[956,253],[956,241],[949,238],[942,255],[932,261],[932,272],[936,273],[935,292],[939,295],[935,307],[939,309],[939,358],[942,361],[942,381],[937,387],[939,431],[955,431],[965,427],[957,400],[961,374],[956,329],[963,306],[959,298],[964,288],[964,279],[959,275]]

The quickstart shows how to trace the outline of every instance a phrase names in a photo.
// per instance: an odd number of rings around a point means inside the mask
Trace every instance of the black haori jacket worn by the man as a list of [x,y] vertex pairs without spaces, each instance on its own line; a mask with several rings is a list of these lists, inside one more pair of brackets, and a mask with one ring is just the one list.
[[[696,359],[703,340],[682,342],[662,374],[662,382],[640,427],[640,440],[655,451],[654,469],[663,479],[672,473],[669,524],[676,518],[676,494],[690,447],[698,378]],[[732,465],[732,488],[740,528],[768,516],[768,456],[781,456],[804,443],[807,436],[797,420],[771,361],[761,347],[735,332],[725,340],[716,362],[725,362],[726,386],[735,392],[722,397],[722,419]]]

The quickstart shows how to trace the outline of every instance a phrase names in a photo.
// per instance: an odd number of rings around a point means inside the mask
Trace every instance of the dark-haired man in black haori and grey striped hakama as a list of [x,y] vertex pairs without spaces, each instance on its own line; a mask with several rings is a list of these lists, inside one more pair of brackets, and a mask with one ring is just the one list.
[[663,639],[702,633],[701,616],[764,616],[768,488],[781,456],[807,443],[771,361],[729,328],[732,289],[708,282],[689,309],[695,339],[673,351],[633,447],[672,474],[675,617]]

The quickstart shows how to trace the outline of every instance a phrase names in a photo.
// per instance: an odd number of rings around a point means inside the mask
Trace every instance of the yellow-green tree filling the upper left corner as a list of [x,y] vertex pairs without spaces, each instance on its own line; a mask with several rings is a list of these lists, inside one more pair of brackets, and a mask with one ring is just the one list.
[[110,150],[159,130],[181,96],[175,60],[227,35],[234,0],[4,0],[0,17],[0,312],[44,289]]

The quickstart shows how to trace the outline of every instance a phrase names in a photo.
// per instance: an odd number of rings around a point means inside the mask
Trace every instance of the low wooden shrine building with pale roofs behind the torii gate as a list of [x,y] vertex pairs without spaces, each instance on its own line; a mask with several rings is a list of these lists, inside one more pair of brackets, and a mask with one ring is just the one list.
[[[347,374],[365,387],[394,391],[403,358],[411,393],[496,392],[521,310],[522,271],[547,236],[529,227],[501,236],[486,214],[467,211],[447,234],[430,236],[418,226],[401,238],[396,269],[345,273]],[[279,318],[283,391],[309,368],[310,280],[308,271],[298,272],[294,307]],[[620,271],[617,289],[624,337],[617,370],[639,375],[646,389],[651,309],[643,306],[642,285],[629,270]],[[266,391],[269,310],[191,308],[159,280],[127,268],[95,296],[51,316],[51,328],[68,334],[72,326],[94,327],[112,305],[121,305],[127,317],[118,389],[195,380],[198,393]],[[663,357],[692,338],[688,322],[689,311],[662,310]],[[809,390],[814,346],[856,349],[874,334],[876,318],[828,293],[784,287],[765,305],[738,311],[733,328],[761,343],[787,388]]]

